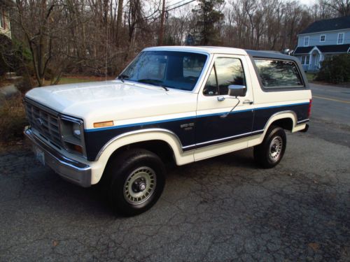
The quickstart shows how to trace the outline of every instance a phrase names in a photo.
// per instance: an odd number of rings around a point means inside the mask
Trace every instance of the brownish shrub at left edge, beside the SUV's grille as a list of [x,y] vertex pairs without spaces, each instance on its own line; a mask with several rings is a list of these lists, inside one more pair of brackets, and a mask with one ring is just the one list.
[[11,143],[21,140],[25,125],[27,119],[22,96],[13,96],[3,101],[3,105],[0,105],[0,142]]

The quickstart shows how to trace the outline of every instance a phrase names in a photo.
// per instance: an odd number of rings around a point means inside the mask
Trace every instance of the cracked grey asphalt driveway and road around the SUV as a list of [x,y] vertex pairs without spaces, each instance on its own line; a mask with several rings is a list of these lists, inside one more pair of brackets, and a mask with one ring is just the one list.
[[331,88],[311,86],[309,132],[288,134],[279,166],[249,149],[169,168],[138,217],[28,150],[0,155],[0,261],[350,261],[350,89]]

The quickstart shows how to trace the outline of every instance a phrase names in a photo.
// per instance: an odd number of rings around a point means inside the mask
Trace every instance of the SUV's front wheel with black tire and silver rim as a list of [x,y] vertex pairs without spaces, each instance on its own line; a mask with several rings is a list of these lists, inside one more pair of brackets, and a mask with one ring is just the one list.
[[165,166],[153,152],[131,149],[112,159],[105,182],[112,208],[123,216],[150,209],[165,186]]

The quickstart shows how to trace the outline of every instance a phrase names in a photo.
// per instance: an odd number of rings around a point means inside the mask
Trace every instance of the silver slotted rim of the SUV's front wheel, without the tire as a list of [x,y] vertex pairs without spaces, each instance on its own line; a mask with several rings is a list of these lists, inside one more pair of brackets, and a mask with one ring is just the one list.
[[125,180],[124,198],[132,205],[144,203],[152,196],[156,185],[155,171],[148,166],[137,168]]

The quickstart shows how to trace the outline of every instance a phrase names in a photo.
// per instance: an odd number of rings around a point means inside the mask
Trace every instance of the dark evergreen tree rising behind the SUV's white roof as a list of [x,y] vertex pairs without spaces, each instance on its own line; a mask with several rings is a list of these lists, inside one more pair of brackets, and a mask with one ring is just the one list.
[[218,45],[221,43],[218,26],[223,20],[223,13],[218,10],[223,0],[200,0],[198,7],[193,9],[197,16],[195,35],[199,45]]

